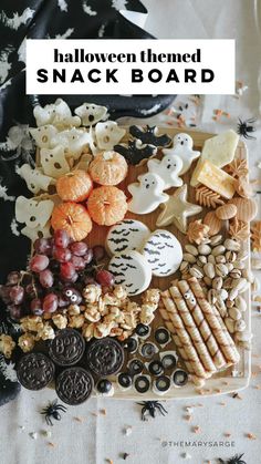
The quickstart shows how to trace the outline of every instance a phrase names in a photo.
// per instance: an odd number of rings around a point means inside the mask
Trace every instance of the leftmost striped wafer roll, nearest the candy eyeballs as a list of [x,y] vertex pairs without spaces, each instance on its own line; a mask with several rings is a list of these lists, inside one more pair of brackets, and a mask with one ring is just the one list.
[[169,312],[169,318],[174,324],[175,331],[182,344],[184,350],[187,353],[187,357],[189,359],[189,361],[191,362],[192,367],[194,367],[194,371],[196,373],[196,375],[198,377],[202,377],[202,378],[208,378],[211,375],[211,373],[206,372],[199,357],[198,353],[196,351],[196,349],[192,346],[191,339],[184,326],[182,319],[180,318],[179,313],[178,313],[178,309],[174,302],[174,300],[170,297],[169,291],[165,291],[161,293],[161,298],[165,305],[165,308],[167,309],[167,311]]

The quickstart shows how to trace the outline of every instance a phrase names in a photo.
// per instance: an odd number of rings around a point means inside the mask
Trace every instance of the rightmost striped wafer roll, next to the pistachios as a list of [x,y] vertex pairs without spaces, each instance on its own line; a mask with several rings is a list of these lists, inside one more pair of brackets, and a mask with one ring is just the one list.
[[212,307],[206,300],[201,286],[199,285],[196,277],[191,277],[190,279],[188,279],[188,283],[209,323],[209,327],[217,340],[217,343],[219,344],[220,350],[223,353],[225,359],[227,360],[227,362],[234,364],[236,362],[238,362],[238,352],[236,350],[236,347],[230,347],[228,338],[222,330],[219,319],[213,313]]

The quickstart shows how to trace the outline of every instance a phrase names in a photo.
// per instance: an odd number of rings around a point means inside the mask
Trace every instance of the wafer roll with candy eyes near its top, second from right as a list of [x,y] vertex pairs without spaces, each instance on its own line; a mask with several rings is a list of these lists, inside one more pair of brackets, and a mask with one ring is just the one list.
[[[190,291],[190,288],[188,286],[187,280],[180,280],[178,283],[178,287],[185,297],[186,293],[189,293],[191,297],[194,297],[192,292]],[[188,297],[188,295],[186,295]],[[212,357],[213,363],[217,369],[221,369],[226,365],[226,359],[222,355],[222,352],[220,351],[220,348],[216,341],[216,338],[213,337],[211,329],[205,319],[205,316],[201,311],[200,306],[198,305],[196,298],[186,298],[187,305],[189,307],[190,313],[201,333],[201,337],[205,341],[205,343],[208,347],[208,350]]]

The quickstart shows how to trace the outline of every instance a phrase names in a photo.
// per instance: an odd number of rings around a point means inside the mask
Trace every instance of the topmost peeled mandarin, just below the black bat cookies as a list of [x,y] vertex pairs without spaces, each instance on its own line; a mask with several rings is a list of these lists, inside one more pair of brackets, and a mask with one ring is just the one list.
[[127,175],[128,166],[124,156],[116,152],[103,152],[95,156],[88,173],[101,185],[117,185]]

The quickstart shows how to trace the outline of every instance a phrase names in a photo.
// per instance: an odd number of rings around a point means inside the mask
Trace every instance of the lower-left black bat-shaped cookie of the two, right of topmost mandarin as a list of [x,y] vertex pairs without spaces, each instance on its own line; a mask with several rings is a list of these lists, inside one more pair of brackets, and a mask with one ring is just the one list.
[[129,141],[128,145],[115,145],[115,152],[119,153],[125,159],[132,164],[137,165],[143,159],[150,158],[157,153],[157,147],[154,145],[140,145],[137,141]]

